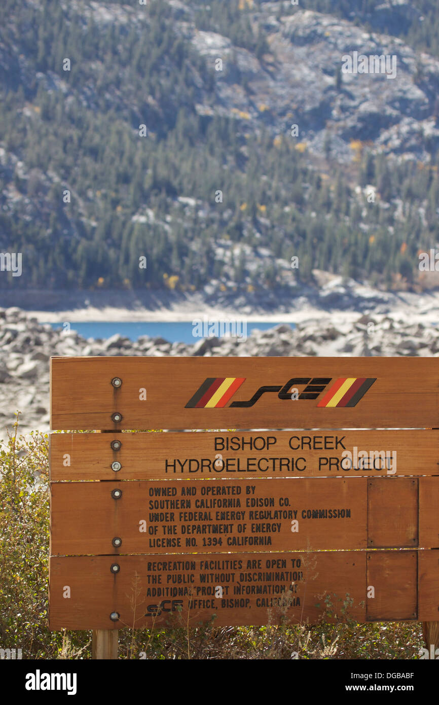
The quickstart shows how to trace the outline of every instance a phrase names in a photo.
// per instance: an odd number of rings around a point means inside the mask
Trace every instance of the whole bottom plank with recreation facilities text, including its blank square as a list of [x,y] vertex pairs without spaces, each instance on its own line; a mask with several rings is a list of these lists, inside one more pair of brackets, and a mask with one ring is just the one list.
[[49,625],[434,620],[438,593],[439,551],[51,558]]

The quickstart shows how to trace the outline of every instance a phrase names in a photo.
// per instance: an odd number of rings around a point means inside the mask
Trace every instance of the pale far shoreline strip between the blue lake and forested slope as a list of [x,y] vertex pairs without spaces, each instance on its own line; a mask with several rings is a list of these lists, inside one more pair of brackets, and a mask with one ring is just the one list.
[[259,292],[221,291],[212,281],[199,292],[176,290],[1,290],[1,307],[20,307],[42,322],[192,321],[205,316],[247,321],[333,319],[371,311],[438,319],[439,272],[428,272],[430,288],[383,290],[314,269],[315,282]]

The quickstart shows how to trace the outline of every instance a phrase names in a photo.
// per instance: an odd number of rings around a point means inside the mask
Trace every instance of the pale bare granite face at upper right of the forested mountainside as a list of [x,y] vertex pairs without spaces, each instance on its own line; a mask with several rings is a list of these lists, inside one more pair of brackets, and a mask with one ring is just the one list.
[[[354,158],[350,142],[359,135],[381,152],[427,159],[423,135],[439,144],[439,61],[383,33],[395,4],[383,3],[379,9],[364,17],[373,29],[369,32],[349,20],[306,9],[279,17],[276,4],[263,4],[258,21],[267,32],[270,54],[260,60],[222,35],[185,23],[181,31],[206,62],[214,67],[216,59],[223,61],[214,98],[200,93],[199,113],[235,114],[252,125],[264,122],[275,134],[289,134],[290,125],[296,124],[299,141],[315,154],[321,154],[328,133],[331,154],[342,163]],[[400,3],[395,21],[403,26],[416,13]],[[395,77],[342,73],[338,83],[342,57],[354,51],[368,58],[396,57]],[[242,77],[248,90],[240,85]]]

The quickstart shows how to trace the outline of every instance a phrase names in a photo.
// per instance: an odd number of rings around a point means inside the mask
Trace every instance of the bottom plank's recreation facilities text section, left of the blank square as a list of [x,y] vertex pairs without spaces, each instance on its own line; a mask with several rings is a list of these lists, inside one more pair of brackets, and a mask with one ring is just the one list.
[[[326,610],[325,595],[331,613],[341,615],[347,594],[350,615],[365,619],[366,551],[119,556],[120,571],[113,574],[115,562],[109,556],[51,558],[51,630],[186,626],[187,621],[192,627],[212,615],[215,625],[265,625],[280,623],[283,613],[288,623],[315,623]],[[215,597],[217,586],[222,598]],[[165,610],[174,607],[171,622],[163,609],[154,614],[162,601]],[[117,622],[111,621],[112,612],[119,614]]]

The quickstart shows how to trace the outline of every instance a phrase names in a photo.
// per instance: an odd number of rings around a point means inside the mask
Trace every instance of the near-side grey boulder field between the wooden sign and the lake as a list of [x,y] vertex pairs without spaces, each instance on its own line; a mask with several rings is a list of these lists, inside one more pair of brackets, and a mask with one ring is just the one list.
[[208,338],[186,345],[148,336],[133,342],[118,334],[86,340],[73,330],[40,324],[16,307],[0,309],[0,440],[6,439],[6,429],[11,431],[17,410],[22,433],[49,430],[52,355],[438,356],[439,329],[388,314],[363,314],[354,321],[311,319],[295,329],[281,325],[254,330],[245,340]]

